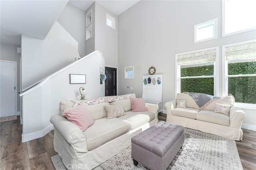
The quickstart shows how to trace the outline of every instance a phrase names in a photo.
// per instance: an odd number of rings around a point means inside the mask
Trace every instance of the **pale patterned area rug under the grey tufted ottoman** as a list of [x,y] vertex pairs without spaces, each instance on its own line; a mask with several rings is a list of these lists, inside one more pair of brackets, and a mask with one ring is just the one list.
[[[168,170],[242,170],[242,164],[232,139],[185,128],[182,149],[168,166]],[[56,170],[65,170],[61,157],[52,156]],[[142,164],[134,166],[131,146],[122,150],[94,170],[147,170]]]

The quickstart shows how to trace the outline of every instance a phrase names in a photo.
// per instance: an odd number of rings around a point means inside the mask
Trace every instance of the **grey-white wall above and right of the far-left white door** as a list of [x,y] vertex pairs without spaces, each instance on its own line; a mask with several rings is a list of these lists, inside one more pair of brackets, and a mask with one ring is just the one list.
[[[20,53],[17,52],[18,45],[0,43],[0,59],[17,62],[17,92],[20,92]],[[17,110],[20,111],[20,96],[17,93]]]

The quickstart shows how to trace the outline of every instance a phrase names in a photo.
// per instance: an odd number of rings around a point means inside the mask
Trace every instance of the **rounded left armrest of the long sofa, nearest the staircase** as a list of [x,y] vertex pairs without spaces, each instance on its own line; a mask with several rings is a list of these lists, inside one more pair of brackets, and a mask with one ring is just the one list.
[[86,147],[86,137],[81,129],[79,129],[74,123],[62,117],[59,114],[52,115],[50,122],[54,125],[60,135],[66,140],[66,142],[72,147],[71,150],[76,153],[88,152]]

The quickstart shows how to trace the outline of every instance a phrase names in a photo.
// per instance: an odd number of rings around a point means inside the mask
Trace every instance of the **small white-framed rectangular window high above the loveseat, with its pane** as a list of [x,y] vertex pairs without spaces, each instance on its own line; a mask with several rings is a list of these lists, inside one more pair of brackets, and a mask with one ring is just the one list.
[[217,18],[194,26],[194,43],[215,39],[217,37]]

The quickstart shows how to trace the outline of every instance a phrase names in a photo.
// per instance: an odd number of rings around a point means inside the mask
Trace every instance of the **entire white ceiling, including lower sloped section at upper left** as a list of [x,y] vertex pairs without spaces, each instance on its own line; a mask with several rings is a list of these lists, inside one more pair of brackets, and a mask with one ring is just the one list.
[[[21,35],[44,39],[66,3],[87,10],[93,0],[0,0],[0,41],[20,45]],[[139,0],[97,0],[119,15]]]

